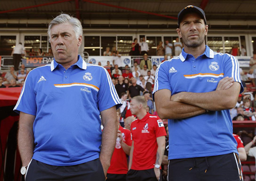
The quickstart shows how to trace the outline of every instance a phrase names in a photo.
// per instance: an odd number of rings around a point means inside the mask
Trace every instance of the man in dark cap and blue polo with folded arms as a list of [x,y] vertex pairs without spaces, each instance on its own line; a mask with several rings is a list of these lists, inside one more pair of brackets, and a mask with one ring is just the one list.
[[205,45],[199,7],[180,11],[177,32],[184,48],[160,64],[153,91],[159,117],[168,119],[168,180],[242,180],[229,112],[243,92],[238,61]]

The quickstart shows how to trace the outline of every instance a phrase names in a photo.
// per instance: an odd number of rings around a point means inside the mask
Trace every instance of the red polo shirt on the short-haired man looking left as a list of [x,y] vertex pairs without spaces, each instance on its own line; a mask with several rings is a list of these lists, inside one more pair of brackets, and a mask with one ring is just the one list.
[[158,116],[147,113],[131,125],[133,146],[132,170],[148,170],[156,163],[157,137],[166,136],[164,123]]

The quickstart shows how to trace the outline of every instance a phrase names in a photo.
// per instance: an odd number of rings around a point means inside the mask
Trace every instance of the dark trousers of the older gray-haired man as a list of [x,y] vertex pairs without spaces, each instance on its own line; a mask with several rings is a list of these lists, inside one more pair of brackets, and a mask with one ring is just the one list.
[[26,181],[61,180],[99,180],[104,181],[105,175],[99,159],[79,165],[53,166],[32,160],[28,167]]

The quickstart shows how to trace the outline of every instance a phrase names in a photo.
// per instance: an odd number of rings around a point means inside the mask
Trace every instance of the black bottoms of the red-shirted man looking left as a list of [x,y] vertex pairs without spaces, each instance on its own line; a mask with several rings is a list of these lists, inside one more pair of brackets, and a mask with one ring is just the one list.
[[[148,170],[129,170],[127,172],[126,181],[158,181],[154,168]],[[162,181],[162,174],[160,170],[160,181]]]

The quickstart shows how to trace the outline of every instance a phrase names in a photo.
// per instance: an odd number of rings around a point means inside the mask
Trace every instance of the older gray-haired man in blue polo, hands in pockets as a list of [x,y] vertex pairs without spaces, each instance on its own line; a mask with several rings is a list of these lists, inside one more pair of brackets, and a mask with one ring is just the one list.
[[57,16],[48,34],[54,61],[29,72],[14,108],[21,174],[27,181],[104,180],[117,139],[118,94],[105,68],[78,55],[77,18]]

